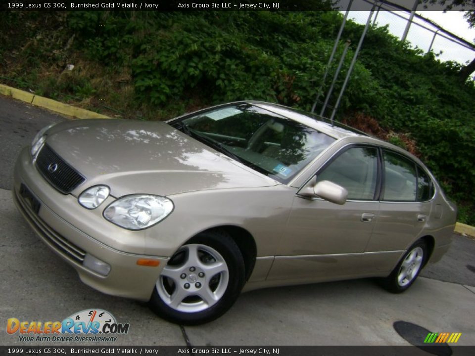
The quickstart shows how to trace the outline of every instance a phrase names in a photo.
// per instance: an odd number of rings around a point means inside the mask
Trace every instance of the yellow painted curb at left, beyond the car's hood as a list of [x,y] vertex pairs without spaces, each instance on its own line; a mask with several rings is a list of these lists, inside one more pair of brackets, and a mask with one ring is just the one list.
[[110,117],[98,114],[94,111],[81,109],[72,105],[64,104],[59,101],[48,99],[44,96],[35,95],[28,91],[8,87],[0,84],[0,94],[11,96],[14,99],[28,102],[32,105],[40,106],[45,109],[68,115],[76,119],[110,119]]

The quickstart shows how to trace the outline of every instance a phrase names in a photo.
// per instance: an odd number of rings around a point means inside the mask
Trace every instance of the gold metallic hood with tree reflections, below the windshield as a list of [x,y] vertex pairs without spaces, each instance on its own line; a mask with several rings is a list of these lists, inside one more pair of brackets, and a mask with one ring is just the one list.
[[55,125],[47,144],[86,181],[111,194],[172,195],[279,184],[162,122],[76,120]]

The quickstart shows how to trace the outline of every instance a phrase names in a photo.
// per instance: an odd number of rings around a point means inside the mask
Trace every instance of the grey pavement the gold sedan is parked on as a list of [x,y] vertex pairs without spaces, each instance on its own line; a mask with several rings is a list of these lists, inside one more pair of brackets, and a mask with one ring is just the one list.
[[143,303],[95,291],[40,241],[9,190],[20,148],[59,120],[64,119],[0,96],[0,345],[25,345],[6,333],[7,318],[54,321],[92,308],[131,325],[127,335],[100,345],[408,345],[393,328],[397,321],[432,332],[462,332],[458,344],[475,345],[475,241],[460,235],[403,294],[388,293],[371,279],[251,291],[224,316],[201,326],[180,327]]

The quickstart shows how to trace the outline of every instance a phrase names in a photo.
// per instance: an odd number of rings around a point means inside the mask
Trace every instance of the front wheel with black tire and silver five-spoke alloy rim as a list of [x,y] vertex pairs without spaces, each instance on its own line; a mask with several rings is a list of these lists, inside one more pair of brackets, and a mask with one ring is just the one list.
[[163,268],[149,307],[178,324],[209,322],[232,307],[244,285],[244,270],[238,245],[226,232],[202,232]]

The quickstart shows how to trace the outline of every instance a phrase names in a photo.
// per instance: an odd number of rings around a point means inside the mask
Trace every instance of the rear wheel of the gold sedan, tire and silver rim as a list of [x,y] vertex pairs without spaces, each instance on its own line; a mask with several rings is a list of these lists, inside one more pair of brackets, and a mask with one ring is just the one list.
[[427,262],[427,245],[423,240],[416,241],[404,254],[391,274],[380,282],[392,293],[406,291],[416,280]]

